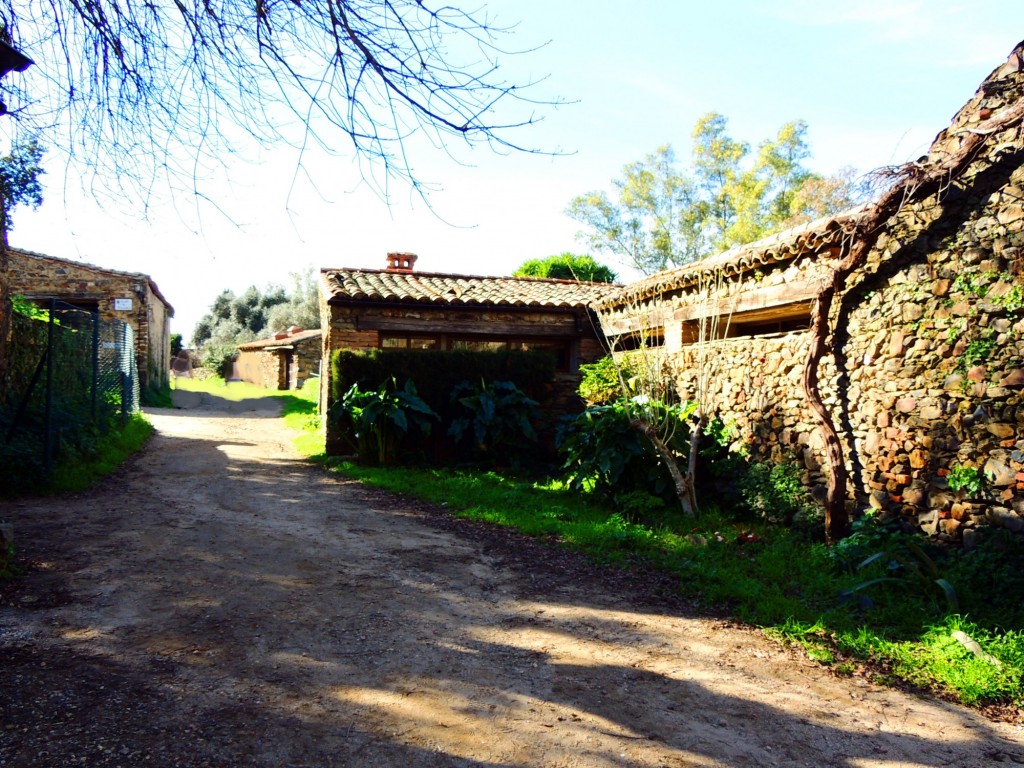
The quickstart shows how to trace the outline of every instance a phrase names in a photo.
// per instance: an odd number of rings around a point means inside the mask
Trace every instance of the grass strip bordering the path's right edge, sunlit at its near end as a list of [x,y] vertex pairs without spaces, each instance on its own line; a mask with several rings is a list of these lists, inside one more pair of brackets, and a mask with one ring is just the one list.
[[[558,541],[604,563],[634,563],[671,574],[684,594],[709,607],[797,642],[808,655],[852,670],[874,660],[893,679],[945,692],[965,703],[1024,703],[1024,633],[985,630],[958,615],[941,613],[933,596],[904,589],[878,595],[869,613],[840,602],[839,595],[864,579],[844,572],[828,551],[777,526],[711,513],[684,530],[629,522],[594,499],[558,484],[538,484],[494,473],[368,468],[343,463],[338,471],[391,493],[437,504],[452,514],[514,527]],[[689,524],[689,523],[687,523]],[[938,611],[938,612],[937,612]],[[975,639],[993,666],[975,656],[951,633]]]

